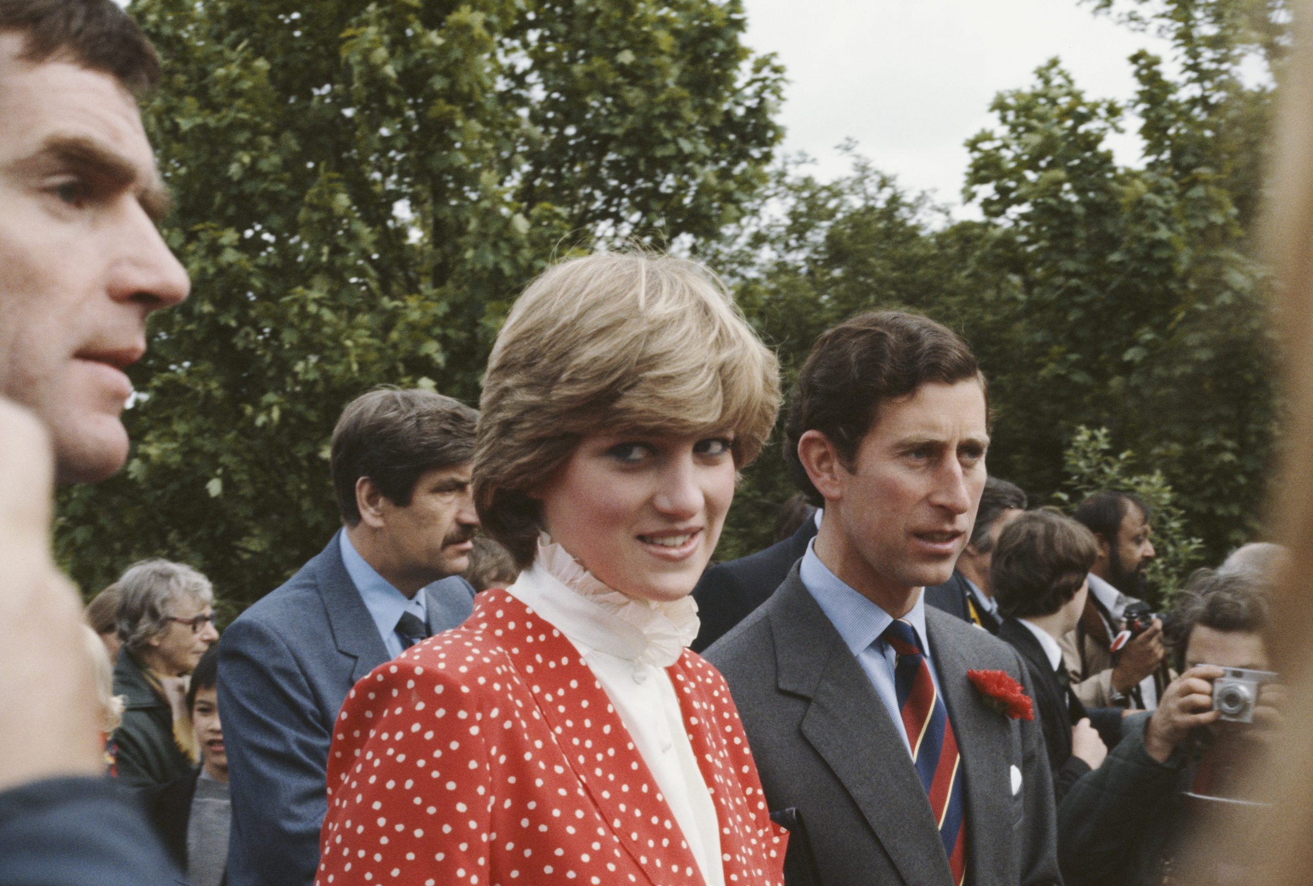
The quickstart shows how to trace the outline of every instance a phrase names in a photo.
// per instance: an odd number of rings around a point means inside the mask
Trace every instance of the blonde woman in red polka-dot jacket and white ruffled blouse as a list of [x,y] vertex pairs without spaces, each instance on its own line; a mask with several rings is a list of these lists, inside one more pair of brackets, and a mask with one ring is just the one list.
[[779,883],[734,702],[687,648],[775,357],[701,266],[599,255],[524,293],[481,406],[474,496],[520,578],[356,685],[316,882]]

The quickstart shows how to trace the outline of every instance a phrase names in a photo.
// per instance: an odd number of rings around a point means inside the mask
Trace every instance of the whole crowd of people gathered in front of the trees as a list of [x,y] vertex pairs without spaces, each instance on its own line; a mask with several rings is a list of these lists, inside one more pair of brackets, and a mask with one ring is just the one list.
[[[1288,549],[1155,613],[1144,501],[987,474],[957,333],[859,314],[783,398],[671,256],[549,268],[478,410],[345,404],[340,530],[222,637],[165,559],[64,617],[46,476],[122,465],[122,369],[188,294],[134,97],[158,71],[112,0],[0,0],[0,391],[30,410],[0,400],[0,702],[42,730],[0,726],[0,885],[1154,886],[1264,806]],[[712,564],[785,399],[798,496]]]

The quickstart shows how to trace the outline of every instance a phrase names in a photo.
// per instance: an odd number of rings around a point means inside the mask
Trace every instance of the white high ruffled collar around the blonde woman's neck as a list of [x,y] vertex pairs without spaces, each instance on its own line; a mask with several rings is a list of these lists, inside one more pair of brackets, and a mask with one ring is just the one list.
[[667,668],[697,637],[692,596],[672,602],[630,597],[603,584],[548,536],[538,538],[533,566],[508,591],[575,643],[635,663]]

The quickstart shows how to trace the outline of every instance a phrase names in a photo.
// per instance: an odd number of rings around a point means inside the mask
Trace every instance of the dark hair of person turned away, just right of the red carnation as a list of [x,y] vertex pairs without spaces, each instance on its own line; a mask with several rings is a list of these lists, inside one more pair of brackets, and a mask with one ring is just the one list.
[[999,612],[1052,616],[1077,595],[1099,555],[1094,533],[1057,511],[1032,511],[1007,524],[990,560]]

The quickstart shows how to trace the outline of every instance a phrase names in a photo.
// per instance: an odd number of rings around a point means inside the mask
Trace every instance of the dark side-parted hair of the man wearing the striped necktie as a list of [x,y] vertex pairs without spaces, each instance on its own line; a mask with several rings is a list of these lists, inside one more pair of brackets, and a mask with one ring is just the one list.
[[930,318],[868,311],[823,332],[802,364],[784,423],[784,457],[793,482],[807,501],[825,504],[798,461],[798,440],[807,431],[823,433],[851,467],[882,403],[909,396],[928,382],[956,385],[972,378],[985,391],[985,375],[970,348]]

